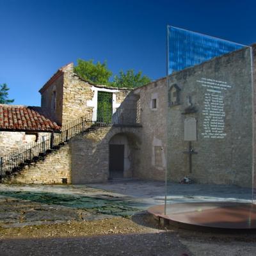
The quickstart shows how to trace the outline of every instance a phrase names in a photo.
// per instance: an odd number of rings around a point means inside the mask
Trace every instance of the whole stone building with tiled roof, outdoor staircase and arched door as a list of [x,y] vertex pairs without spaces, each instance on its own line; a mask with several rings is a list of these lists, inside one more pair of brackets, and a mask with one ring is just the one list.
[[[79,184],[137,175],[138,95],[127,88],[88,83],[73,72],[73,63],[60,68],[39,92],[41,107],[3,106],[9,110],[0,112],[4,120],[0,139],[15,145],[1,148],[1,175],[13,174],[6,181]],[[23,114],[25,109],[37,116],[37,126],[28,125],[33,116]],[[14,119],[23,126],[12,125]],[[29,164],[23,164],[20,156],[27,157],[29,147],[33,161],[29,158]],[[19,172],[12,173],[13,162],[18,163]]]

